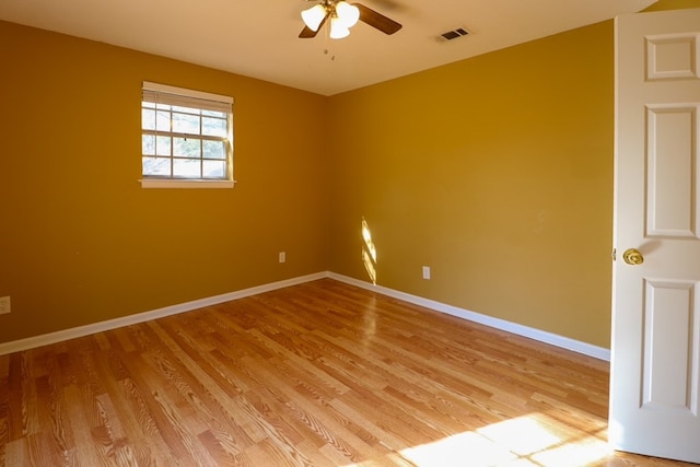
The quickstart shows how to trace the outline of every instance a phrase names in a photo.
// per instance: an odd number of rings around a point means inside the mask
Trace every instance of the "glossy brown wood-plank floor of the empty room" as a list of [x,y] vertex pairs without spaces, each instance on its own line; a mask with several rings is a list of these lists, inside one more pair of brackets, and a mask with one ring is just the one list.
[[0,357],[0,466],[660,466],[608,364],[332,280]]

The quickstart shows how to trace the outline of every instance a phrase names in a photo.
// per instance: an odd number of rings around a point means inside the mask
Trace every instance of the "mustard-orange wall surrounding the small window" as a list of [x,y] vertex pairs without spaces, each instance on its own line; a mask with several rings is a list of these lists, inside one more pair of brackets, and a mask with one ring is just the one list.
[[[0,342],[326,270],[325,97],[5,22],[0,44]],[[142,80],[235,98],[235,188],[140,187]]]

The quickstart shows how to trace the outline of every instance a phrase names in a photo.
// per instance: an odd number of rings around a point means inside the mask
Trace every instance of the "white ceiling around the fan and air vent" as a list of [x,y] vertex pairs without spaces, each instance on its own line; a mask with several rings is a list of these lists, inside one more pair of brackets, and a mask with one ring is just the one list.
[[[358,23],[339,40],[328,37],[328,26],[298,38],[300,12],[313,4],[305,0],[0,0],[0,19],[332,95],[655,1],[360,0],[404,28],[387,36]],[[471,34],[438,39],[457,27]]]

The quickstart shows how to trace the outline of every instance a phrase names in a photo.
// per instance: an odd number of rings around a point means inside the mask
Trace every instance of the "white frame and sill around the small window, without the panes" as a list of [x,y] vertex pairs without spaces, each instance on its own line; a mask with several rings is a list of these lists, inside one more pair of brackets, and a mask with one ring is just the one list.
[[[165,103],[167,105],[191,107],[206,110],[215,110],[228,114],[228,137],[225,138],[225,166],[226,175],[222,178],[189,178],[189,177],[174,177],[171,176],[143,176],[143,170],[141,172],[142,178],[139,180],[143,188],[233,188],[235,180],[233,179],[233,97],[212,94],[202,91],[188,90],[185,87],[176,87],[167,84],[153,83],[143,81],[141,91],[141,108],[143,103]],[[161,130],[148,130],[143,129],[143,120],[141,121],[141,136],[147,135],[168,135],[171,137],[178,137],[180,135],[173,131],[162,132]],[[205,140],[202,136],[188,135],[187,138],[197,138]],[[143,143],[142,143],[143,144]],[[143,145],[142,145],[143,148]],[[150,155],[143,154],[142,157]],[[171,155],[163,155],[164,157],[174,159],[172,151]]]

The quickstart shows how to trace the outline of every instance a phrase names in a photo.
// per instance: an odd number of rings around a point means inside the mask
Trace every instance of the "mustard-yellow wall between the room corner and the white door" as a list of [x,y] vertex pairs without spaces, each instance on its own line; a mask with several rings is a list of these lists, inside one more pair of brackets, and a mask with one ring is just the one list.
[[364,218],[380,284],[609,346],[612,60],[605,22],[334,96],[330,269]]

